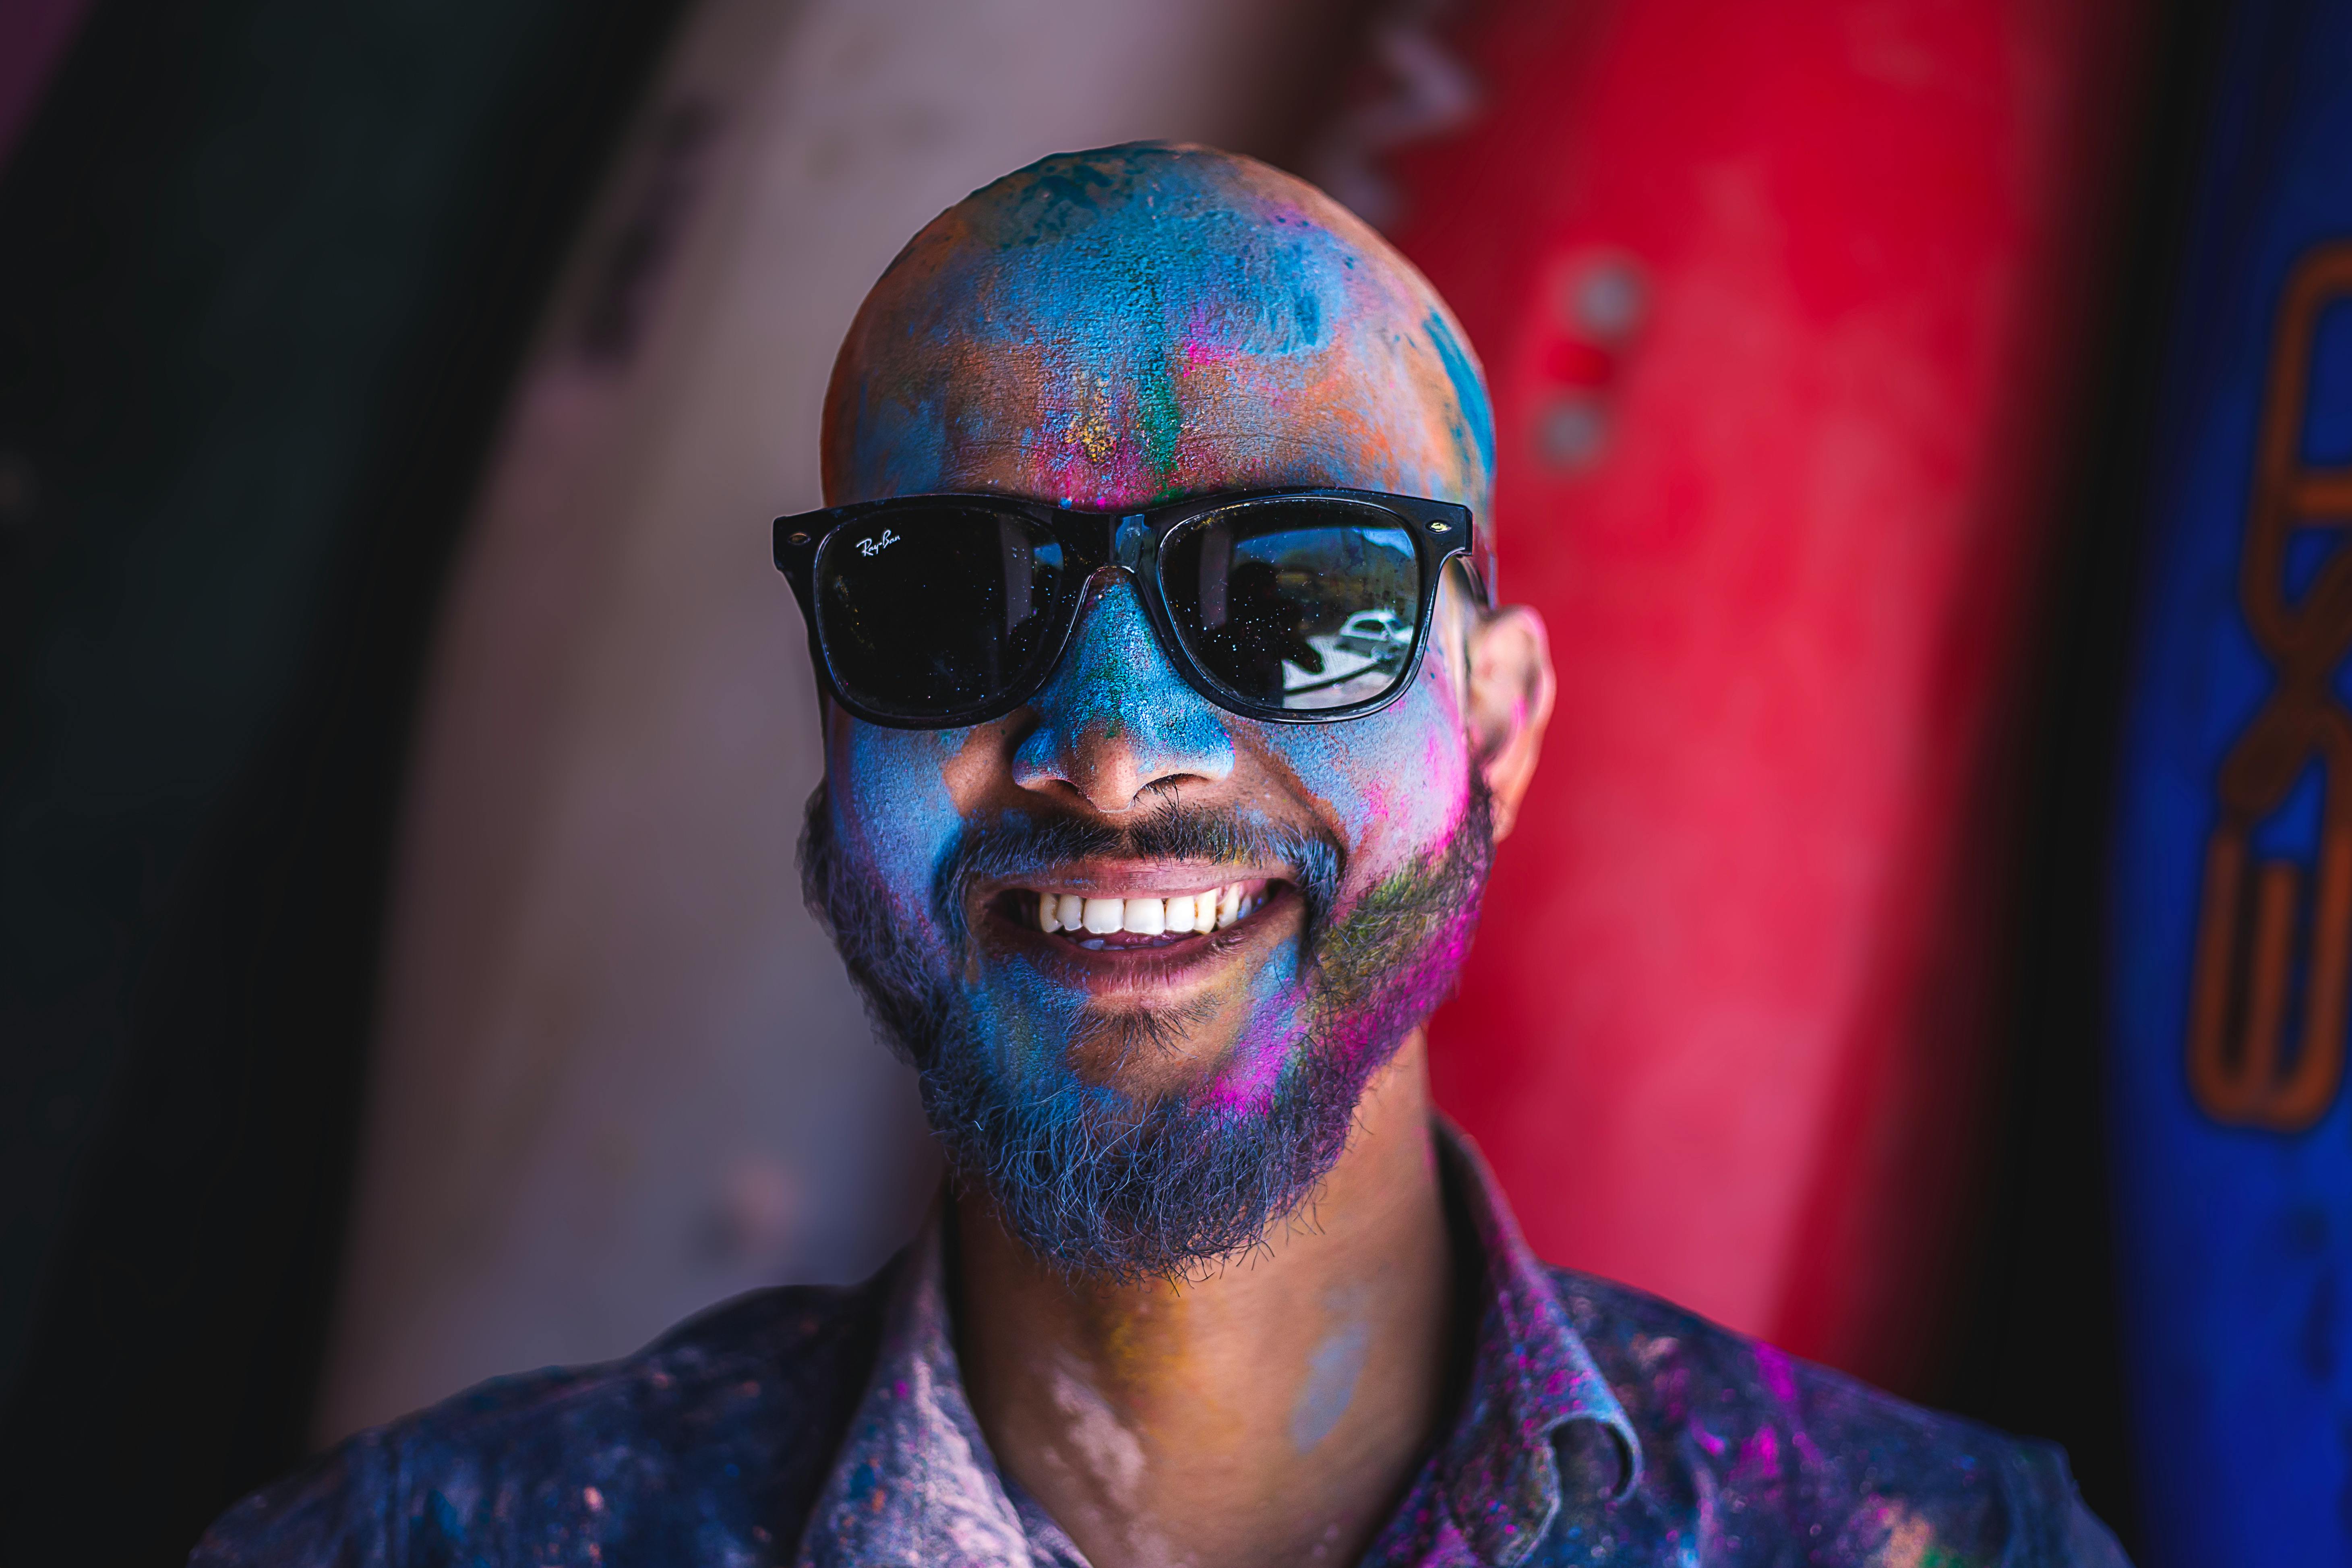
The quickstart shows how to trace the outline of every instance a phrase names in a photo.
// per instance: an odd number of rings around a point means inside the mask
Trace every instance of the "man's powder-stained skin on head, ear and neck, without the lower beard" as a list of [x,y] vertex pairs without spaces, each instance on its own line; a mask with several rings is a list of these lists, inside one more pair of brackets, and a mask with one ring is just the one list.
[[[1122,508],[1329,484],[1468,503],[1482,527],[1494,449],[1477,367],[1430,287],[1317,190],[1202,148],[1051,158],[941,214],[858,313],[823,442],[833,503],[1002,491]],[[1176,1276],[1056,1267],[985,1180],[962,1182],[974,1408],[1000,1465],[1101,1568],[1350,1561],[1437,1425],[1458,1335],[1418,1023],[1468,940],[1484,813],[1508,827],[1550,703],[1531,614],[1456,597],[1437,637],[1378,715],[1263,724],[1185,686],[1134,585],[1105,571],[1028,708],[962,731],[830,719],[828,877],[889,922],[898,961],[941,976],[964,1023],[931,1048],[1110,1126],[1183,1105],[1247,1128],[1315,1053],[1352,1072],[1350,1098],[1364,1086],[1355,1135],[1343,1119],[1336,1164],[1291,1197],[1310,1187],[1312,1204]],[[1272,891],[1230,936],[1190,943],[1183,964],[1091,969],[1002,919],[997,889],[938,907],[938,867],[967,835],[1169,809],[1329,846],[1329,907],[1310,907],[1298,865],[1251,865]],[[1362,1004],[1334,980],[1350,917],[1378,929],[1409,907],[1465,832],[1475,877],[1444,889],[1461,919],[1404,954],[1428,983],[1388,1011]],[[1028,877],[1211,879],[1136,856]],[[962,1126],[943,1131],[957,1147]],[[962,1164],[985,1171],[969,1143]]]

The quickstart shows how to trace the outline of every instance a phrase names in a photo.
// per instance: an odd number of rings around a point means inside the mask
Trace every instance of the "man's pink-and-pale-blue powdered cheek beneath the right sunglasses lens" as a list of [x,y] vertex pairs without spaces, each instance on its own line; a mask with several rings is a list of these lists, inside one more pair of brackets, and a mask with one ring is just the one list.
[[1350,891],[1444,844],[1470,804],[1470,750],[1437,654],[1402,701],[1369,719],[1258,726],[1348,844]]

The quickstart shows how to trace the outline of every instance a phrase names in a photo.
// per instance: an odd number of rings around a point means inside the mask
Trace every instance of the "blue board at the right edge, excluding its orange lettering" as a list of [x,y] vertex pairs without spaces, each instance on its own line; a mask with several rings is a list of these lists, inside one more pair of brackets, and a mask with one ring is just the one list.
[[[2277,686],[2239,557],[2281,292],[2352,240],[2352,2],[2244,5],[2220,66],[2164,425],[2112,872],[2117,1211],[2133,1441],[2152,1568],[2352,1561],[2352,1103],[2305,1131],[2223,1126],[2187,1079],[2216,773]],[[2352,303],[2314,334],[2305,461],[2352,456]],[[2298,595],[2343,543],[2293,541]],[[2345,670],[2338,693],[2352,691]],[[2253,830],[2312,865],[2310,769]],[[2305,875],[2305,898],[2310,875]],[[2298,985],[2307,964],[2298,964]]]

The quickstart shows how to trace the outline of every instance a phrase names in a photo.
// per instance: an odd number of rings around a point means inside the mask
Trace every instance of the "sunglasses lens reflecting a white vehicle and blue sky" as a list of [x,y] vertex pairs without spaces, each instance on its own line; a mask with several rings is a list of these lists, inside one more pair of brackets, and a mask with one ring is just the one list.
[[1162,545],[1169,618],[1218,684],[1261,708],[1319,712],[1392,693],[1421,630],[1421,557],[1357,501],[1256,501]]

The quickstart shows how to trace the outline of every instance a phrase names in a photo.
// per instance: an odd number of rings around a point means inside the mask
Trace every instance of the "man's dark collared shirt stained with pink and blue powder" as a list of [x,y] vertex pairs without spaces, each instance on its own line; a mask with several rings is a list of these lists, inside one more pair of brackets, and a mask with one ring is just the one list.
[[[2129,1568],[2065,1458],[1541,1265],[1442,1135],[1484,1260],[1468,1380],[1367,1563]],[[1084,1563],[964,1396],[934,1222],[866,1286],[760,1291],[501,1378],[247,1497],[193,1563]]]

